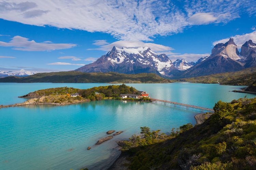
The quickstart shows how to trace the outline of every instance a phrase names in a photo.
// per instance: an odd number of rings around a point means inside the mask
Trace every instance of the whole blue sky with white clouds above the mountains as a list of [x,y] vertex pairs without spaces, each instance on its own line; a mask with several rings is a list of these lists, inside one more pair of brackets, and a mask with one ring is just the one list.
[[233,37],[256,42],[255,1],[0,0],[0,68],[74,70],[114,45],[196,61]]

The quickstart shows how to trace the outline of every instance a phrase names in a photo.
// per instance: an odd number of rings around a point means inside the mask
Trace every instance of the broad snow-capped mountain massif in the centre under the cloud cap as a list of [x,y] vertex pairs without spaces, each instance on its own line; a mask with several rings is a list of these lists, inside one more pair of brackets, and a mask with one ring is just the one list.
[[156,54],[148,47],[113,47],[94,63],[76,69],[82,72],[157,73],[170,76],[176,69],[165,54]]

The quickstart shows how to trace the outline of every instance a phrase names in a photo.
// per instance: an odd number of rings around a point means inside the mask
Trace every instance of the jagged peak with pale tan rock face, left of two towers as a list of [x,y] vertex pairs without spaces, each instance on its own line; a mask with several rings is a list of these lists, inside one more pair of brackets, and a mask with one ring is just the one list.
[[225,58],[231,58],[232,60],[239,60],[239,51],[237,45],[234,43],[233,38],[230,38],[225,44],[219,43],[212,49],[211,57],[223,56]]

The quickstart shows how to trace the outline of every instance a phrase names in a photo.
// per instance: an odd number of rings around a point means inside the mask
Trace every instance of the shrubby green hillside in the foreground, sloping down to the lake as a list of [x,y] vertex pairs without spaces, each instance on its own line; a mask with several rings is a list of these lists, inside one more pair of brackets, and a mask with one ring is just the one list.
[[229,170],[256,167],[256,98],[218,101],[204,123],[172,129],[170,134],[141,127],[120,142],[129,169]]

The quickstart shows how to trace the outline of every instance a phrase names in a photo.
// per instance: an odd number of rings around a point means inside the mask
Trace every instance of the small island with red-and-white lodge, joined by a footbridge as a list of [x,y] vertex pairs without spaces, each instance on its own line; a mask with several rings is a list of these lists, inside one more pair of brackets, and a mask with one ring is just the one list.
[[12,105],[0,105],[0,108],[39,104],[67,105],[107,99],[150,101],[146,91],[138,91],[125,84],[99,86],[89,89],[77,89],[73,87],[48,88],[30,92],[19,98],[28,98],[29,100]]

